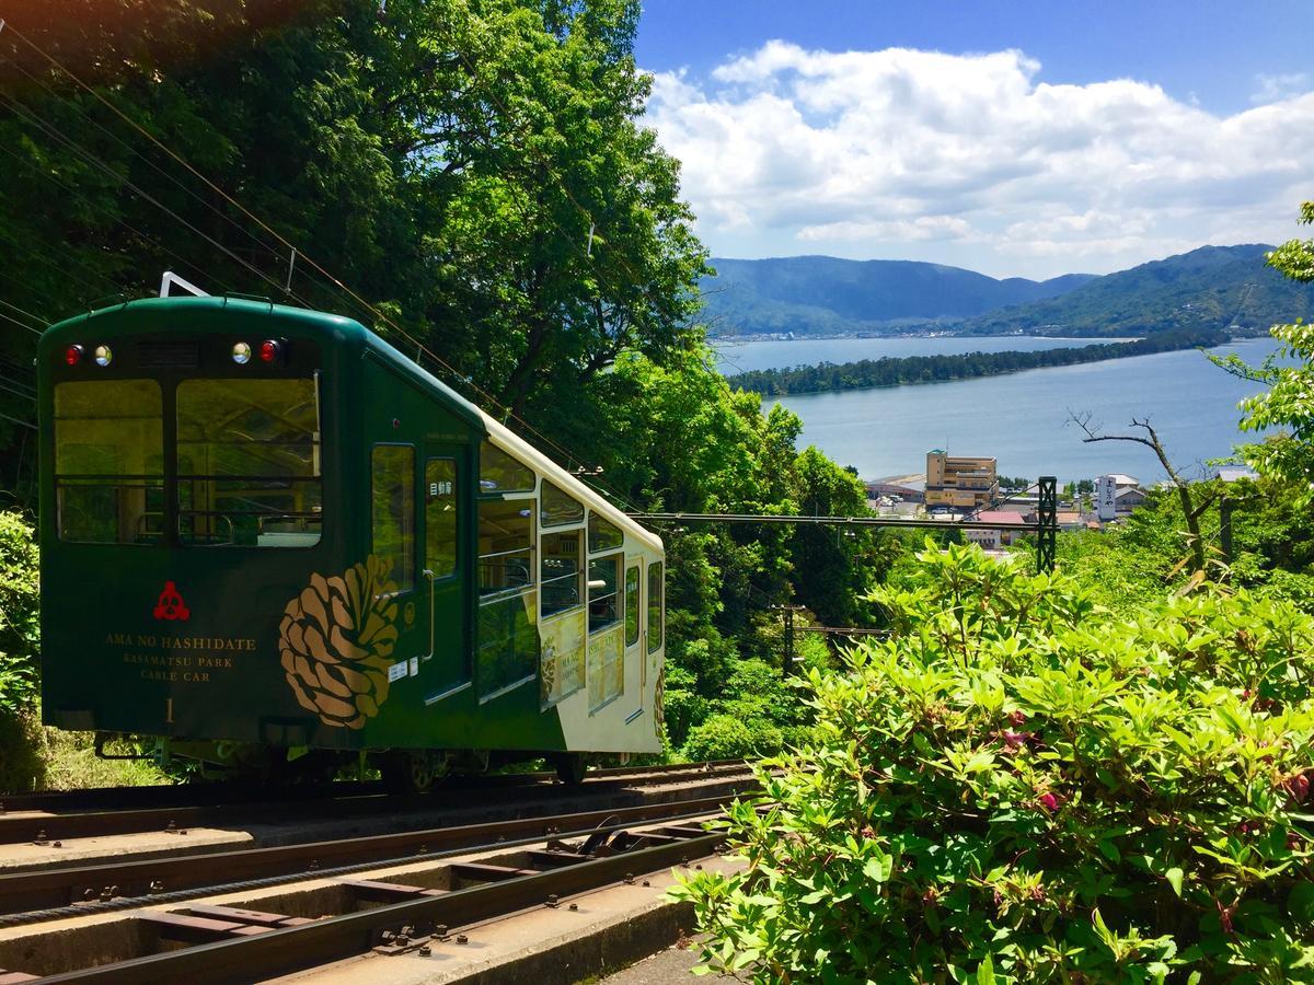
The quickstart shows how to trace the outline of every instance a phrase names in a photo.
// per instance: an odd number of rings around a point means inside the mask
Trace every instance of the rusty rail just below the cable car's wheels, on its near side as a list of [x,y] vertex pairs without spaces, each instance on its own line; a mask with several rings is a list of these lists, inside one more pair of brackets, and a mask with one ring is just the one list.
[[[733,760],[732,760],[733,763]],[[702,764],[699,764],[702,766]],[[619,791],[625,784],[653,785],[683,779],[689,774],[710,777],[725,772],[746,770],[742,764],[715,766],[711,770],[653,770],[636,768],[628,774],[590,774],[583,784],[566,788],[566,796],[600,796],[603,785]],[[561,796],[562,787],[549,783],[547,774],[531,775],[532,779],[516,777],[514,783],[469,784],[485,799],[482,805],[491,802],[514,802],[515,797],[528,796],[541,800],[548,796]],[[489,777],[497,781],[499,777]],[[451,809],[431,795],[388,795],[381,789],[346,797],[326,796],[297,801],[243,801],[237,804],[208,802],[197,805],[141,808],[131,810],[92,810],[72,813],[13,812],[0,816],[0,844],[21,842],[54,842],[72,838],[89,838],[112,834],[135,834],[142,831],[163,831],[171,829],[234,826],[239,823],[284,822],[290,818],[314,818],[330,814],[335,820],[368,818],[372,816],[396,816],[399,809],[415,813],[428,813],[436,809]]]

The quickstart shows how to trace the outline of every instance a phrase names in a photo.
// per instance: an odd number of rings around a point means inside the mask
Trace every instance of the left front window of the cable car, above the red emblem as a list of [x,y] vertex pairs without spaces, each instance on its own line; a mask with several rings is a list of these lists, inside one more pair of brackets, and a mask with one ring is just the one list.
[[164,541],[164,403],[154,380],[55,385],[59,538]]

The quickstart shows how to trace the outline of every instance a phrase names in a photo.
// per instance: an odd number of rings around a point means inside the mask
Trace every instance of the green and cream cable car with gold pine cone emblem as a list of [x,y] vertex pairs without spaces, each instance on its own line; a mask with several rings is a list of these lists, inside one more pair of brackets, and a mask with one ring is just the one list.
[[661,749],[661,540],[359,323],[150,298],[38,348],[42,708],[209,772]]

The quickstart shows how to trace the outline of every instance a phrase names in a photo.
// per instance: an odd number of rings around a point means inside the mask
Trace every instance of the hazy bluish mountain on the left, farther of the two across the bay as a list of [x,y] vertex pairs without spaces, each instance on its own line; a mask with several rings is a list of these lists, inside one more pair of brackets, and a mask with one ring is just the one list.
[[1043,282],[995,280],[941,264],[833,256],[711,264],[716,273],[703,277],[700,289],[704,317],[720,335],[888,331],[900,323],[961,319],[1054,297],[1089,280],[1085,274]]

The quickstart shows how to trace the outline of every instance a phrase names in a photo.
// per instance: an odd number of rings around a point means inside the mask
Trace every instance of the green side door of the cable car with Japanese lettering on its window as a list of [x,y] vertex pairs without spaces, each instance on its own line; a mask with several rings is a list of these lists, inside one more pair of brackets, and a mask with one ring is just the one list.
[[428,623],[428,655],[422,659],[420,676],[424,704],[432,705],[470,683],[468,449],[427,443],[420,483],[424,580],[417,603]]

